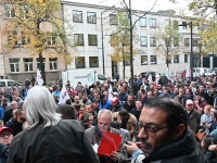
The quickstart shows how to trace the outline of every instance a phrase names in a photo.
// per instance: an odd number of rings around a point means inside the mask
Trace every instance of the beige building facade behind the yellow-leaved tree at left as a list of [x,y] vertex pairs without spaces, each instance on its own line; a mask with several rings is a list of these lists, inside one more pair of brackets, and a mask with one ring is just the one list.
[[[39,57],[33,55],[29,49],[24,48],[28,40],[27,37],[23,37],[22,30],[4,33],[7,23],[9,21],[13,22],[16,14],[21,15],[22,9],[22,5],[20,9],[14,9],[10,3],[0,3],[0,78],[10,78],[24,84],[25,79],[30,79],[31,75],[36,78],[37,70],[40,70]],[[25,14],[23,18],[27,18]],[[15,48],[7,50],[4,47],[12,39],[16,39]],[[52,46],[52,38],[49,43]],[[50,58],[44,53],[42,53],[42,58],[47,83],[59,80],[61,72],[66,68],[64,62],[59,58]]]

